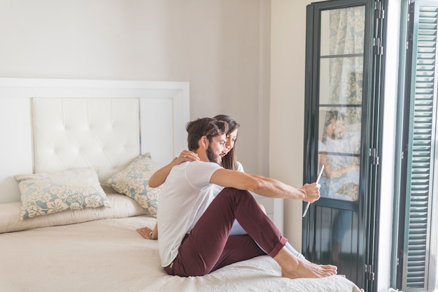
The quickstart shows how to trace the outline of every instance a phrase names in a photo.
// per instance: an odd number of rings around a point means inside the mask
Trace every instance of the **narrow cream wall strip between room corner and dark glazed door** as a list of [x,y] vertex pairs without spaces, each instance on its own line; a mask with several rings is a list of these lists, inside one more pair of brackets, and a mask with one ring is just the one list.
[[[302,186],[304,153],[304,61],[306,5],[271,1],[270,176]],[[285,201],[284,235],[302,246],[302,202]]]

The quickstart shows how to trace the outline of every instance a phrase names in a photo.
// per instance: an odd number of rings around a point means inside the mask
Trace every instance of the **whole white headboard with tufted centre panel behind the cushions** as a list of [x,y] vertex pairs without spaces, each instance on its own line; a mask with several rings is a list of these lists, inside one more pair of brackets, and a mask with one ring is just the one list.
[[97,167],[100,181],[140,153],[159,165],[187,147],[184,82],[0,78],[0,203],[14,174]]

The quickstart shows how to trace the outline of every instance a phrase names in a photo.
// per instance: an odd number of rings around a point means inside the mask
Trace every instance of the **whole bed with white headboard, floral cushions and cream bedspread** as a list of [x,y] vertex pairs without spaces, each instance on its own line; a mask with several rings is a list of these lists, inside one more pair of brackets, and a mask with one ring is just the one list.
[[185,148],[184,82],[0,78],[0,290],[359,291],[341,276],[284,279],[260,256],[169,276],[148,176]]

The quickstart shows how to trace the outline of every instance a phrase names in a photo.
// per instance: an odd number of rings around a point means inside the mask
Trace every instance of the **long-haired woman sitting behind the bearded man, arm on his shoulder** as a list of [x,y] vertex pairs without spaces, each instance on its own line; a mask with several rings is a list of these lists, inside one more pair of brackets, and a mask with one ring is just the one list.
[[[222,120],[225,123],[228,124],[228,132],[227,132],[227,142],[225,144],[225,148],[227,150],[227,154],[222,158],[222,167],[225,169],[233,169],[237,170],[239,172],[243,172],[243,166],[240,162],[237,161],[236,157],[236,151],[234,149],[234,145],[237,140],[237,134],[239,132],[240,125],[236,123],[236,120],[231,118],[230,116],[226,115],[218,115],[214,117],[216,120]],[[192,151],[184,150],[181,152],[181,154],[172,160],[169,165],[166,165],[162,167],[161,169],[158,169],[149,179],[149,186],[151,188],[157,188],[158,186],[161,186],[164,181],[166,181],[167,176],[169,175],[172,167],[175,165],[179,165],[182,162],[186,161],[196,161],[199,160],[197,157],[197,154],[193,153]],[[216,186],[220,189],[222,189],[221,186]],[[219,190],[220,191],[220,190]],[[219,193],[219,191],[217,193]],[[264,211],[264,214],[266,214],[266,211],[262,204],[259,204],[260,209]],[[157,231],[157,224],[155,224],[155,227],[153,230],[151,230],[148,227],[139,228],[136,230],[146,239],[157,239],[158,238],[158,231]],[[243,230],[239,222],[234,221],[234,224],[232,225],[232,229],[229,232],[229,235],[246,235],[247,232]],[[285,245],[289,251],[291,251],[295,256],[299,258],[304,258],[304,256],[296,251],[289,242]]]

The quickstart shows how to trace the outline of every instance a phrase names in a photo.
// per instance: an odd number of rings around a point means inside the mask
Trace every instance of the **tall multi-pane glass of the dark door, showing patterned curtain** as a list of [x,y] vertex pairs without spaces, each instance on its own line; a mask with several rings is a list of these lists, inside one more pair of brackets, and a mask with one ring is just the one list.
[[365,6],[321,13],[318,153],[321,196],[359,199]]

